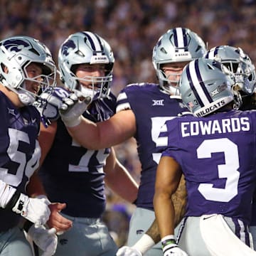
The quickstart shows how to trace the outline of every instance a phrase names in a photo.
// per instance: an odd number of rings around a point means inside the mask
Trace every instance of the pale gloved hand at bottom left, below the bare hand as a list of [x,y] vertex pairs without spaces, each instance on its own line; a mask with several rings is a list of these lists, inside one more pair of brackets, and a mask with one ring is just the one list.
[[28,235],[43,250],[43,255],[41,256],[54,255],[58,245],[58,238],[55,233],[55,228],[46,229],[43,225],[32,225],[28,230]]

